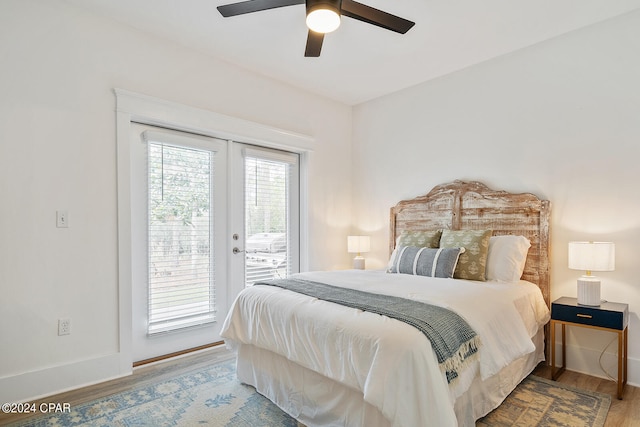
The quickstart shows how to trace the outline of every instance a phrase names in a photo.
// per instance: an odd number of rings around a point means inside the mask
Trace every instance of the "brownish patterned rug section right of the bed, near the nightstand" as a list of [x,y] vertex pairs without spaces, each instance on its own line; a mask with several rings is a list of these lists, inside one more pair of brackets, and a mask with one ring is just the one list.
[[608,394],[529,375],[476,426],[601,427],[610,405]]

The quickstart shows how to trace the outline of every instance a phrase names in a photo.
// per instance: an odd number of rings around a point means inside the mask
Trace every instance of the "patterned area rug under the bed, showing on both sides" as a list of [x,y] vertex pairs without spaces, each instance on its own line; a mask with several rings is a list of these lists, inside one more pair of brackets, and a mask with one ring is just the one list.
[[[611,397],[529,376],[477,426],[601,427]],[[253,387],[241,384],[235,361],[114,394],[71,412],[12,426],[224,426],[301,427]]]

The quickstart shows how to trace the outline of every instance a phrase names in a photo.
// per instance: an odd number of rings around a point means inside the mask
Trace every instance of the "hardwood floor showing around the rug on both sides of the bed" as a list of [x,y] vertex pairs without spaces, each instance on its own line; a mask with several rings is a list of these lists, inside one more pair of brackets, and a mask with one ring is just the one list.
[[[233,354],[227,351],[224,346],[218,346],[195,354],[144,365],[136,368],[133,375],[40,399],[36,405],[38,406],[41,402],[64,402],[69,403],[73,408],[94,399],[130,390],[151,381],[181,375],[199,369],[203,365],[228,360],[232,357]],[[533,373],[543,378],[551,377],[551,370],[545,365],[540,365]],[[566,371],[560,376],[558,382],[585,390],[611,394],[611,408],[605,427],[640,426],[640,388],[627,385],[624,399],[618,400],[615,397],[617,389],[613,381]],[[27,418],[29,417],[18,414],[0,414],[0,426]]]

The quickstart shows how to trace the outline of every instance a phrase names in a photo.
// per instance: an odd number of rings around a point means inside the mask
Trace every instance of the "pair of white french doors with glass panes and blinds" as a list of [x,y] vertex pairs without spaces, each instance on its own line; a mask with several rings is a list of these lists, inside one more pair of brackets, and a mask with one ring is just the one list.
[[297,155],[132,124],[133,357],[220,341],[245,286],[299,270]]

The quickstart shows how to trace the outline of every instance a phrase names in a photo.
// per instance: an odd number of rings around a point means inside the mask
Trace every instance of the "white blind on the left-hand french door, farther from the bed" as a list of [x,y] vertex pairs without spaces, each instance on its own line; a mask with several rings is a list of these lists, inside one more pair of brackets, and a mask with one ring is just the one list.
[[214,153],[148,144],[148,333],[215,321]]

